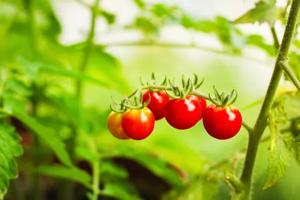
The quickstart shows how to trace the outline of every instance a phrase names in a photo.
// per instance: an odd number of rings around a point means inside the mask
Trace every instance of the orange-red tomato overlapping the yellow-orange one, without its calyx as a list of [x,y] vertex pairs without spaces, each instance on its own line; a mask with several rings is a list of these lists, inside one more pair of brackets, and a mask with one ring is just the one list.
[[125,134],[134,140],[147,138],[154,129],[154,123],[154,114],[147,107],[126,110],[122,117]]

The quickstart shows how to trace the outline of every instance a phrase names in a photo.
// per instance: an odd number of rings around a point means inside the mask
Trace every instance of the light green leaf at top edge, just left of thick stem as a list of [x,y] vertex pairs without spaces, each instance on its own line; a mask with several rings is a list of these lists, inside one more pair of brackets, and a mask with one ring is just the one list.
[[259,24],[268,22],[273,26],[277,18],[277,7],[275,3],[276,0],[260,0],[255,3],[253,9],[250,9],[245,14],[235,19],[232,23],[254,23],[258,21]]

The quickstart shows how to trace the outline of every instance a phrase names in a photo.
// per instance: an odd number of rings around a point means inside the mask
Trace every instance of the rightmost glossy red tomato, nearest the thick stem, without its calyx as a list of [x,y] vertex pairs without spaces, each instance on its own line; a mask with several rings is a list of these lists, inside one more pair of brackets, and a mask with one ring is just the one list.
[[210,104],[203,115],[203,125],[209,135],[216,139],[229,139],[236,135],[242,119],[239,110],[233,105]]

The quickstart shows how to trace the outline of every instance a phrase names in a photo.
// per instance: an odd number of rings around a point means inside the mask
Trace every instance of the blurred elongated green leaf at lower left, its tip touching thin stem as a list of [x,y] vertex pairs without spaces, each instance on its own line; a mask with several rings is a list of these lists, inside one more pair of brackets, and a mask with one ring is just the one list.
[[66,167],[59,164],[39,165],[34,170],[44,175],[72,180],[83,185],[90,184],[91,182],[89,173],[77,167]]

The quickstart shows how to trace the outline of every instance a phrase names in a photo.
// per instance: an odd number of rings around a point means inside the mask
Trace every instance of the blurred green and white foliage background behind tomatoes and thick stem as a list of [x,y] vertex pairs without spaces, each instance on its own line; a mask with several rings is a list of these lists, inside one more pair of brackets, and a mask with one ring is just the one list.
[[[235,87],[238,98],[234,105],[252,125],[259,104],[245,107],[264,95],[275,48],[266,23],[233,25],[231,21],[255,2],[100,0],[94,6],[92,0],[0,0],[1,106],[4,110],[10,108],[12,117],[22,124],[10,120],[23,140],[24,135],[31,135],[30,142],[23,143],[24,155],[17,160],[21,175],[10,182],[7,199],[38,199],[32,185],[39,185],[43,199],[85,199],[79,191],[69,198],[56,194],[64,193],[59,188],[67,190],[61,186],[61,178],[81,182],[74,178],[76,173],[51,168],[53,156],[60,163],[66,162],[58,156],[62,150],[49,144],[52,138],[41,136],[47,134],[46,127],[54,130],[53,135],[66,144],[69,152],[75,137],[72,161],[89,163],[88,169],[77,164],[79,168],[89,171],[93,167],[94,158],[88,158],[89,153],[91,157],[93,153],[101,156],[96,158],[100,163],[99,187],[104,192],[99,199],[230,199],[226,184],[218,178],[207,180],[205,168],[234,158],[234,153],[245,148],[248,135],[244,128],[223,141],[210,137],[201,121],[188,130],[177,130],[161,119],[144,140],[117,140],[106,127],[106,117],[110,96],[121,100],[123,93],[128,95],[139,86],[139,77],[145,82],[154,72],[158,82],[166,74],[180,83],[182,74],[192,77],[196,73],[205,77],[200,87],[204,93],[211,92],[213,84],[218,90]],[[276,2],[280,8],[285,5],[285,0]],[[93,16],[91,10],[95,7]],[[92,17],[96,19],[94,32],[89,34]],[[279,39],[282,21],[279,18],[274,26]],[[293,52],[299,58],[298,49]],[[7,86],[10,79],[13,83]],[[80,95],[76,94],[78,81],[83,84]],[[35,112],[28,111],[30,106],[35,106]],[[19,110],[34,117],[37,124],[20,117]],[[31,131],[24,128],[22,132],[23,125],[33,132],[40,131],[37,135],[44,139],[42,145],[34,148]],[[269,142],[264,142],[258,149],[253,199],[298,199],[300,175],[294,160],[283,178],[262,190],[268,146]],[[36,150],[40,153],[34,162]],[[236,176],[241,172],[243,157],[237,158]],[[42,164],[47,168],[39,168]],[[38,168],[42,182],[30,178],[32,174],[36,177],[32,168]],[[92,181],[89,174],[85,175],[86,182]],[[84,186],[77,185],[81,189]]]

